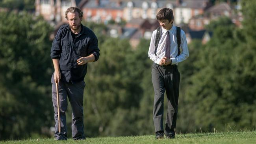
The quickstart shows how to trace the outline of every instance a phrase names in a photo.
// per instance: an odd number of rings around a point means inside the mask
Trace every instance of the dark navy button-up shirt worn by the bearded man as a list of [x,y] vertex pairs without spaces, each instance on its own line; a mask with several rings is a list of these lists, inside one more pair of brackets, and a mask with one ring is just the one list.
[[93,54],[97,61],[100,56],[96,35],[82,24],[81,27],[73,41],[69,25],[61,26],[52,42],[51,58],[59,59],[61,80],[65,82],[76,83],[84,79],[87,63],[78,65],[77,59]]

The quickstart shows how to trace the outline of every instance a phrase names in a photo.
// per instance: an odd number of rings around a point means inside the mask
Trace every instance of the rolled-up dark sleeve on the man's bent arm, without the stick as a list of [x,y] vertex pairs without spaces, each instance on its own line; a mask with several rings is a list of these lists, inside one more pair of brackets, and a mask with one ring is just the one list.
[[94,35],[92,41],[90,42],[89,46],[88,46],[88,54],[93,54],[95,57],[94,61],[98,61],[99,57],[100,57],[100,49],[98,48],[98,39],[96,37],[96,35]]

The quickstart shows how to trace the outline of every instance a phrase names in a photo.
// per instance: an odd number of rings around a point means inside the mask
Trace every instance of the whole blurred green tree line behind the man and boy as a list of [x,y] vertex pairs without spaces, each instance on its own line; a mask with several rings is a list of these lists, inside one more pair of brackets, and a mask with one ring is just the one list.
[[[189,44],[189,58],[178,66],[177,133],[255,130],[256,2],[241,4],[243,28],[230,18],[212,21],[211,40]],[[0,139],[52,137],[53,28],[25,11],[0,17]],[[141,39],[132,49],[128,39],[102,35],[104,25],[83,24],[95,31],[100,48],[100,59],[88,64],[85,76],[85,135],[154,134],[150,41]],[[66,115],[71,137],[70,107]]]

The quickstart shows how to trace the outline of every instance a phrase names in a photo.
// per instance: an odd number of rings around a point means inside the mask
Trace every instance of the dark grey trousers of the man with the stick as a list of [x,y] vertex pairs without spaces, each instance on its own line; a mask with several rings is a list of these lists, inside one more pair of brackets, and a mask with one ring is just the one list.
[[54,107],[54,119],[55,119],[55,134],[54,138],[67,139],[67,124],[66,115],[67,111],[67,98],[72,108],[72,137],[74,140],[84,139],[83,132],[83,89],[85,88],[85,82],[80,81],[78,83],[70,84],[63,81],[59,81],[59,104],[60,104],[60,119],[61,119],[61,133],[58,128],[58,107],[57,107],[57,94],[56,84],[52,76],[52,103]]

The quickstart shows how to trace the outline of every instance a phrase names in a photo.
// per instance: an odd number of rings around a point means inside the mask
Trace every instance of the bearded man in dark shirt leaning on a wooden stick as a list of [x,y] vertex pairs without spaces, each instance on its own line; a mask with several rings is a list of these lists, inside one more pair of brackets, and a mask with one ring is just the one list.
[[[83,132],[83,89],[87,63],[99,58],[98,39],[89,28],[81,24],[83,12],[78,7],[69,7],[65,13],[69,24],[61,26],[52,42],[51,58],[54,64],[52,75],[52,102],[55,118],[55,140],[67,140],[65,111],[67,98],[72,107],[72,137],[85,139]],[[58,131],[56,83],[59,84],[61,133]]]

